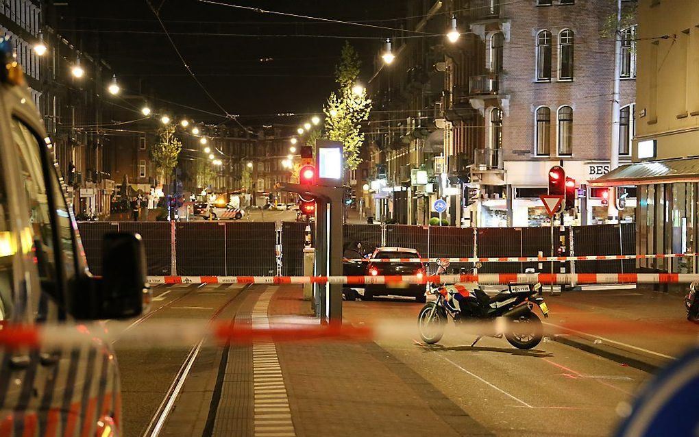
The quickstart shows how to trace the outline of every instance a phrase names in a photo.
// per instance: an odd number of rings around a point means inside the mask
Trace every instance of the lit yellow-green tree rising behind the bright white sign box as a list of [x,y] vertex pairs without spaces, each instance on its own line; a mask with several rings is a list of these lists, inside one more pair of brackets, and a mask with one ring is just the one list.
[[343,143],[345,169],[354,170],[361,163],[359,152],[364,143],[361,122],[369,117],[371,100],[366,96],[366,89],[356,92],[361,61],[354,47],[345,43],[340,52],[340,63],[335,69],[335,81],[338,89],[333,91],[326,102],[325,134],[332,141]]

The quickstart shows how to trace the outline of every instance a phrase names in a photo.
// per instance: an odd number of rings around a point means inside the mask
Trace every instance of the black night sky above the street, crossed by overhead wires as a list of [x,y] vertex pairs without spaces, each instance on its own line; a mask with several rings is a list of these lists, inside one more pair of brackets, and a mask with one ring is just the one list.
[[[255,13],[198,0],[150,0],[182,57],[201,83],[245,124],[297,123],[278,113],[320,113],[335,87],[333,71],[346,36],[386,38],[391,31],[323,23],[297,17]],[[216,0],[240,6],[346,21],[399,27],[404,0],[245,1]],[[189,76],[146,0],[70,0],[57,6],[59,33],[82,41],[82,50],[99,51],[122,87],[131,91],[223,113]],[[210,34],[210,35],[203,35]],[[225,36],[245,34],[250,36]],[[296,36],[326,35],[340,38]],[[279,36],[282,35],[282,36]],[[382,42],[349,40],[359,50],[362,76],[374,71]],[[172,106],[175,111],[176,106]],[[178,115],[195,120],[221,118],[187,108]]]

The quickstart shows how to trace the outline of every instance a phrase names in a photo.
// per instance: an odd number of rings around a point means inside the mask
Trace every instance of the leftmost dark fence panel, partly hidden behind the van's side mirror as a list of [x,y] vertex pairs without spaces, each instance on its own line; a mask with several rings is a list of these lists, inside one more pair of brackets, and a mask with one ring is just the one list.
[[119,231],[139,234],[143,239],[149,275],[170,274],[172,236],[169,222],[119,222]]

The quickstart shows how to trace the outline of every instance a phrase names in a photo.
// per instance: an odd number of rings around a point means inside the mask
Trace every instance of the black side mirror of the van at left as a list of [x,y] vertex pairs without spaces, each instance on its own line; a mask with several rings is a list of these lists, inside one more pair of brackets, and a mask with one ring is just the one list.
[[102,276],[87,278],[76,290],[73,315],[82,320],[127,319],[147,310],[145,249],[138,234],[106,234],[102,243]]

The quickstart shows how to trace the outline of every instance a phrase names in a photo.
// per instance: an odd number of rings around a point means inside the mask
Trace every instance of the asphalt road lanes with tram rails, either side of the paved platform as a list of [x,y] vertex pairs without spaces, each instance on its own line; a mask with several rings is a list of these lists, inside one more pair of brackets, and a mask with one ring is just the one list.
[[[256,299],[260,299],[266,289],[270,287],[156,287],[154,310],[137,323],[147,327],[171,319],[205,323],[212,317],[249,318]],[[347,301],[343,308],[346,322],[361,325],[375,320],[415,322],[421,304],[411,299],[387,298]],[[620,415],[628,410],[633,394],[650,377],[649,373],[546,339],[529,351],[514,349],[498,338],[484,338],[472,347],[473,340],[473,336],[451,328],[438,345],[424,345],[412,332],[406,332],[403,337],[377,340],[376,344],[390,354],[391,359],[417,373],[423,387],[429,387],[428,391],[458,406],[492,434],[503,436],[610,435]],[[250,346],[226,349],[205,343],[192,359],[196,347],[193,341],[186,347],[162,345],[144,350],[115,342],[122,373],[124,435],[140,436],[156,425],[162,436],[224,435],[215,432],[222,426],[222,417],[217,417],[222,411],[229,415],[229,426],[235,427],[236,435],[254,434],[252,413],[236,413],[252,411],[249,405],[253,357]],[[167,394],[171,393],[173,382],[178,382],[176,377],[181,375],[188,357],[191,371],[186,381],[182,380],[180,395],[166,420],[158,424],[159,417],[163,417]],[[283,358],[283,354],[280,357]],[[233,363],[235,369],[222,378],[222,363],[226,360],[229,368]],[[289,385],[285,361],[281,358],[280,364]],[[361,369],[365,375],[372,371],[372,368]],[[226,390],[226,383],[231,381],[233,389]],[[333,381],[318,383],[333,384]],[[361,383],[358,378],[356,385]],[[220,389],[222,385],[223,390]],[[312,392],[305,393],[302,387],[287,387],[287,391],[296,434],[282,432],[279,435],[315,435],[303,431],[299,422],[301,415],[294,413],[294,404],[302,404]],[[420,396],[419,391],[417,396]],[[357,401],[366,406],[366,410],[359,413],[367,417],[372,417],[373,410],[378,412],[382,408],[376,399]],[[215,402],[213,408],[212,402]],[[373,417],[378,415],[375,413]],[[424,429],[415,430],[415,435],[424,435],[429,429],[431,425],[426,423]],[[346,431],[343,435],[359,435],[350,429]],[[457,431],[459,435],[470,435],[468,430]]]

